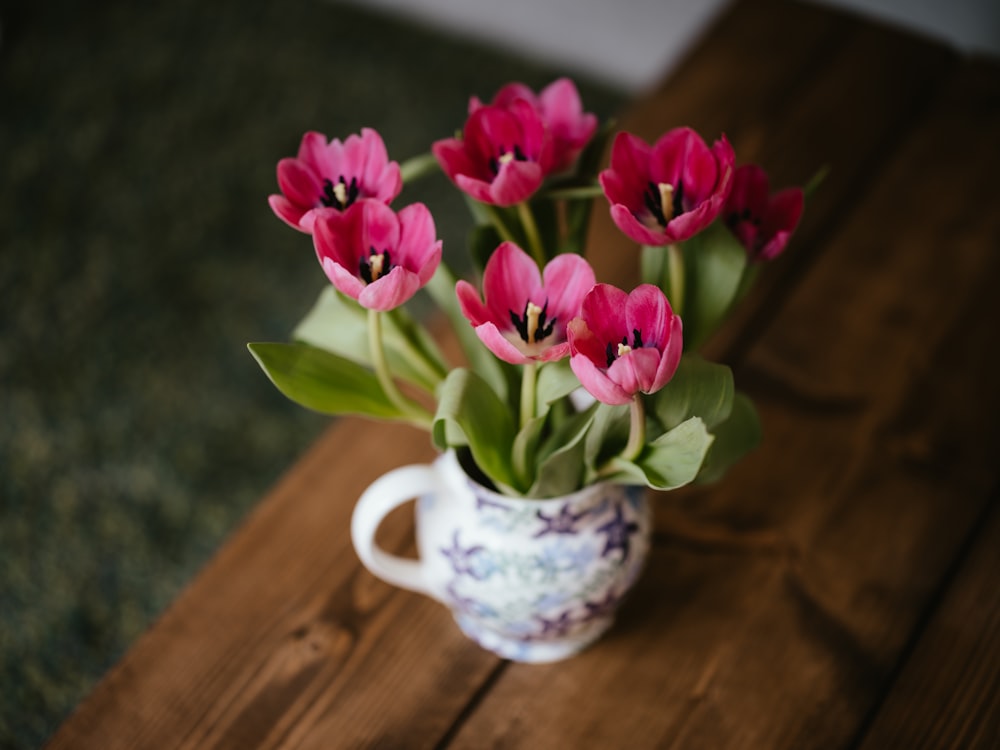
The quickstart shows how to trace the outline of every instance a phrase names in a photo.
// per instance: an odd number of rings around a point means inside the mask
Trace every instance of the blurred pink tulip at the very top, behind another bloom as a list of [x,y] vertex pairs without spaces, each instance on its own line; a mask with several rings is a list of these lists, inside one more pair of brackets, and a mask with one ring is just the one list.
[[[597,116],[583,111],[576,86],[569,78],[560,78],[535,94],[523,83],[509,83],[493,97],[493,106],[509,107],[515,101],[525,101],[552,134],[553,171],[568,169],[597,130]],[[483,107],[472,97],[469,113]]]

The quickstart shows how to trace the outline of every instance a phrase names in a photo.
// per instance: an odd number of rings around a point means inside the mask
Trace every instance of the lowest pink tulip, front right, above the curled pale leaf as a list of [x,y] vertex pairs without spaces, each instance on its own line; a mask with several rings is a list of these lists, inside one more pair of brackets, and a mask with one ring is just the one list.
[[631,294],[596,285],[567,332],[570,367],[606,404],[627,404],[640,391],[658,391],[674,376],[683,349],[680,316],[652,284]]

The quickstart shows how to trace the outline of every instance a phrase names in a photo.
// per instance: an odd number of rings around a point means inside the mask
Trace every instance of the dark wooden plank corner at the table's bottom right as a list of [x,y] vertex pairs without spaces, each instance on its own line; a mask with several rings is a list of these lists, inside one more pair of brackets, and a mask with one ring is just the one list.
[[991,508],[861,750],[1000,745],[1000,512]]

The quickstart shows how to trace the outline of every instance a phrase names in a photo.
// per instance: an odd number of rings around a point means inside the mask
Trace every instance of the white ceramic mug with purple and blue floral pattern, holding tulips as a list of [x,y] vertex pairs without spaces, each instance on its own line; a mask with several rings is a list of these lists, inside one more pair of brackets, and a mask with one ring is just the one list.
[[[416,499],[416,560],[375,542],[383,518]],[[614,483],[547,499],[501,495],[454,451],[383,475],[362,494],[351,536],[384,581],[450,608],[459,627],[506,659],[578,653],[613,623],[649,552],[644,488]]]

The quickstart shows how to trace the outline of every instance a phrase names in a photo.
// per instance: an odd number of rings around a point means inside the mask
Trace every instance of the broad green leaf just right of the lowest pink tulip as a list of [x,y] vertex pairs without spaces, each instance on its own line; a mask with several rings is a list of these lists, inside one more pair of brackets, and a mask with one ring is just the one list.
[[712,429],[729,418],[734,392],[732,370],[697,354],[685,354],[674,377],[647,396],[646,404],[665,430],[691,417],[701,417]]

